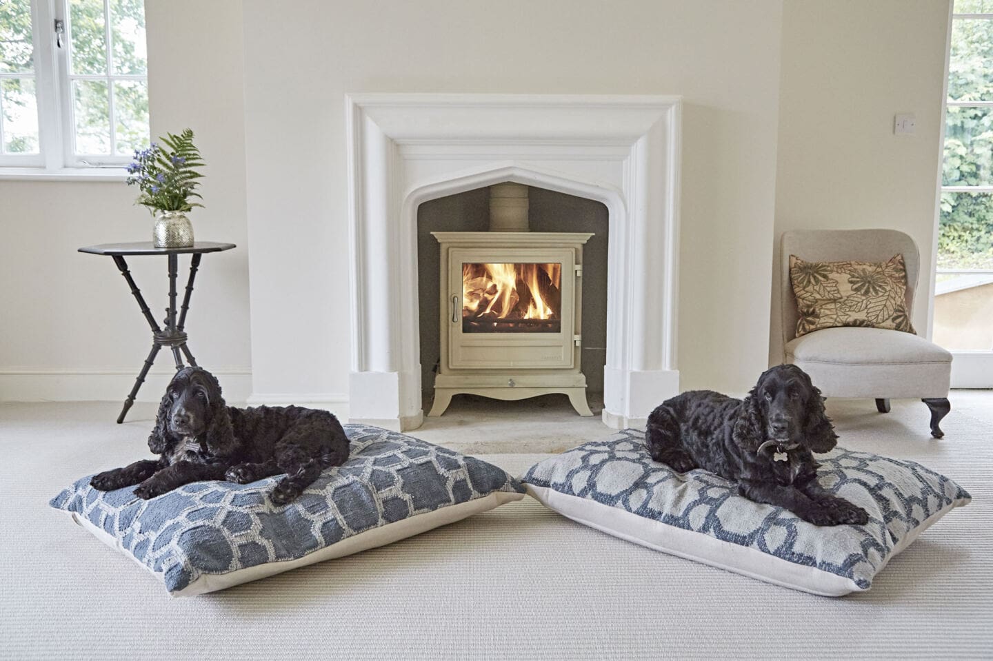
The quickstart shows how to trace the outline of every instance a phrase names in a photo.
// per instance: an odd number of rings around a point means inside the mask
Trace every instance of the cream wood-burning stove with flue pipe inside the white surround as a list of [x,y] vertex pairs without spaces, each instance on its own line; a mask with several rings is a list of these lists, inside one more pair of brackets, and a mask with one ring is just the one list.
[[[491,188],[491,231],[432,232],[441,250],[441,352],[431,417],[452,396],[586,401],[582,355],[585,232],[531,232],[527,187]],[[507,201],[512,200],[512,213]],[[514,231],[515,230],[515,231]]]

